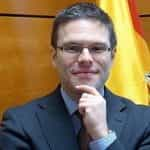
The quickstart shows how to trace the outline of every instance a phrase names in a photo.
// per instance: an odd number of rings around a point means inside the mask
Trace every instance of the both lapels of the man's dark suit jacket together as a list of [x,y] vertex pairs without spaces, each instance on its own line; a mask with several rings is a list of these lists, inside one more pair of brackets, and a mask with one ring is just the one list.
[[[108,126],[119,137],[127,118],[126,104],[107,88],[105,88],[104,97],[107,101]],[[60,94],[60,87],[52,95],[44,97],[38,107],[37,118],[50,148],[78,150],[71,117]]]

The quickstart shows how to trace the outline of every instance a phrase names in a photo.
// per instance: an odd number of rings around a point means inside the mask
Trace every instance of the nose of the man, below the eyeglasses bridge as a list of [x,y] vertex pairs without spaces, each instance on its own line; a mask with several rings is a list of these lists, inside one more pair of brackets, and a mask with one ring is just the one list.
[[78,57],[78,62],[79,64],[82,65],[91,65],[93,62],[93,57],[90,53],[90,51],[88,50],[88,48],[83,48],[82,52],[80,53],[79,57]]

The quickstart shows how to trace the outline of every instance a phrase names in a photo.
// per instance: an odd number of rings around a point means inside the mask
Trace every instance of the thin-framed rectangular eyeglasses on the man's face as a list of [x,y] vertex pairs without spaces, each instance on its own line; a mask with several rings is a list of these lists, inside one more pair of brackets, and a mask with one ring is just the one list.
[[66,44],[58,46],[57,48],[68,54],[81,54],[84,48],[87,48],[91,54],[102,54],[111,50],[105,44],[92,44],[88,46],[83,46],[81,44]]

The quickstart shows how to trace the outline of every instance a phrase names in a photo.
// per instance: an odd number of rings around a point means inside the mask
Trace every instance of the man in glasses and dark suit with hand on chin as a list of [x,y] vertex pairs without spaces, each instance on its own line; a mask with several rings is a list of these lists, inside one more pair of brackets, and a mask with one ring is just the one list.
[[52,31],[61,86],[4,114],[0,149],[150,150],[150,109],[104,86],[117,43],[109,16],[78,3],[56,16]]

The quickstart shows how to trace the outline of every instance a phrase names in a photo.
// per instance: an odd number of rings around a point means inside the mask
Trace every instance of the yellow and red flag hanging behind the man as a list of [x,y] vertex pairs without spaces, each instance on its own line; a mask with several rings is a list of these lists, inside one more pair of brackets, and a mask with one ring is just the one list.
[[149,104],[144,79],[150,72],[150,51],[144,41],[134,0],[98,0],[112,18],[118,45],[107,86],[137,104]]

